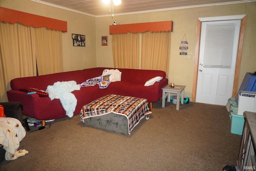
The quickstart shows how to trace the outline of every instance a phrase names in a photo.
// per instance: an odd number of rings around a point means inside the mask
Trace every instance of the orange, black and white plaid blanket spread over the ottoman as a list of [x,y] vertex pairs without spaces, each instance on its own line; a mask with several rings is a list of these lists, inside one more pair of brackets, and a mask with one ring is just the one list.
[[84,122],[85,118],[108,113],[126,116],[130,134],[145,115],[147,115],[146,119],[148,119],[152,111],[148,107],[148,100],[146,99],[110,94],[84,105],[80,111],[80,120]]

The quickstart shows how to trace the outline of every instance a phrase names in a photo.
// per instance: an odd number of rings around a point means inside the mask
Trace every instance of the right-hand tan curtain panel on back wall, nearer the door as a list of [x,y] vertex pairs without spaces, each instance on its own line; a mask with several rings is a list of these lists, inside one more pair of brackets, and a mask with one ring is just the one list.
[[171,32],[142,33],[141,69],[168,73]]

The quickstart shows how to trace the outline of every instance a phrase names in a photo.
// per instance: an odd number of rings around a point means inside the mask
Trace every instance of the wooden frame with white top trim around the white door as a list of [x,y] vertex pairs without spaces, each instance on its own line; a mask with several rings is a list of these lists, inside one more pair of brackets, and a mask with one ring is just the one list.
[[232,91],[232,97],[236,97],[237,90],[238,90],[238,81],[239,81],[240,66],[241,66],[241,60],[242,60],[242,50],[243,50],[243,44],[244,44],[244,34],[245,34],[245,26],[246,26],[247,15],[198,18],[197,19],[197,26],[196,26],[196,52],[195,52],[195,61],[194,61],[194,78],[193,78],[193,87],[192,87],[192,102],[196,101],[196,85],[197,85],[197,77],[198,77],[198,62],[199,62],[200,37],[201,37],[202,22],[222,21],[222,20],[241,20],[240,34],[239,34],[239,40],[238,40],[238,49],[237,49],[237,56],[236,56],[236,68],[235,68],[235,74],[234,74],[234,85],[233,85],[233,91]]

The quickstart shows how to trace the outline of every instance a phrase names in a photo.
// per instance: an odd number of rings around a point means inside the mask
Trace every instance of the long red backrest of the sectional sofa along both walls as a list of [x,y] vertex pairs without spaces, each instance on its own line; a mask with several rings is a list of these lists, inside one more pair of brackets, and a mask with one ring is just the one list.
[[105,69],[118,69],[122,72],[121,81],[128,81],[134,83],[145,84],[146,81],[160,76],[165,78],[166,73],[159,70],[138,70],[138,69],[124,69],[124,68],[88,68],[84,70],[70,71],[70,72],[60,72],[55,74],[47,74],[42,76],[32,76],[24,78],[15,78],[11,80],[10,85],[13,90],[27,89],[27,88],[37,88],[46,90],[48,85],[53,85],[55,82],[62,81],[76,81],[77,84],[98,77],[102,75]]

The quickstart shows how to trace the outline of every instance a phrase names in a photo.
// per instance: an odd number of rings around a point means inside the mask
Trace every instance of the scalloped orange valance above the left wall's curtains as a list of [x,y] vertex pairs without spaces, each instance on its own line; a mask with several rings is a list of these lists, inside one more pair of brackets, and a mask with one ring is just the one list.
[[26,12],[20,12],[3,7],[0,7],[0,22],[11,24],[15,24],[16,22],[18,22],[28,27],[46,27],[49,30],[68,32],[68,24],[66,21],[29,14]]

